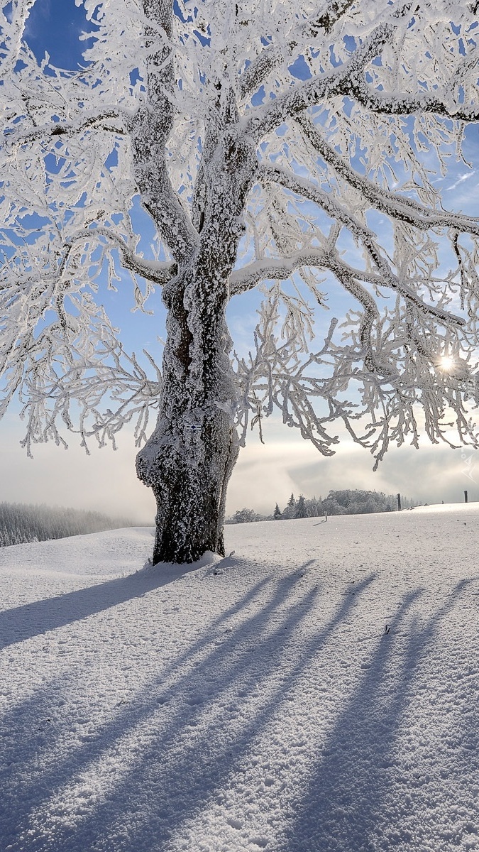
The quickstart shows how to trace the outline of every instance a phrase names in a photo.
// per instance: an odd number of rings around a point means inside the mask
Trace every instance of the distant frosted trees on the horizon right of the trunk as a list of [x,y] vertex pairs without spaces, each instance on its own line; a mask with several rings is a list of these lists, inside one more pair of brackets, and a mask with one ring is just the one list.
[[[401,495],[402,509],[410,509],[417,503]],[[297,499],[291,494],[285,508],[278,504],[272,515],[258,515],[254,509],[239,509],[228,524],[245,524],[251,521],[289,521],[294,518],[311,518],[324,515],[368,515],[372,512],[394,512],[397,510],[397,495],[378,491],[330,491],[327,497]]]

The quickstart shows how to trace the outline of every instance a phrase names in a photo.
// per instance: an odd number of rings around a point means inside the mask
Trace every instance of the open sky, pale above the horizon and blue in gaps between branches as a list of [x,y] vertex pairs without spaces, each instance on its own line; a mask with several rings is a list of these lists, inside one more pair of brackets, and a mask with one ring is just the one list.
[[[38,59],[49,53],[53,63],[76,67],[88,42],[78,36],[91,29],[84,17],[83,6],[74,0],[37,0],[26,26],[26,39]],[[465,154],[472,164],[479,161],[479,141],[476,129],[468,133]],[[475,215],[477,171],[465,164],[451,162],[446,178],[438,177],[449,209],[463,210]],[[148,245],[151,225],[147,216],[138,211],[144,244]],[[380,227],[380,222],[378,223]],[[148,233],[148,230],[150,233]],[[155,317],[131,314],[133,296],[129,279],[118,285],[118,293],[106,293],[107,308],[113,322],[122,329],[125,347],[141,350],[147,346],[160,357],[157,337],[164,334],[164,311],[159,295]],[[257,324],[257,294],[234,298],[228,311],[234,345],[247,352]],[[330,293],[329,323],[332,314],[343,314],[343,305],[335,292]],[[338,434],[341,435],[338,427]],[[3,452],[0,461],[0,500],[47,502],[103,509],[110,513],[130,514],[135,520],[151,520],[154,513],[153,496],[136,480],[133,439],[128,430],[120,435],[118,451],[101,451],[92,447],[87,458],[71,436],[71,448],[64,452],[53,444],[38,446],[35,458],[27,459],[19,441],[23,436],[22,423],[12,410],[0,423]],[[331,488],[371,488],[378,491],[401,492],[420,502],[460,502],[464,490],[470,500],[479,499],[479,459],[470,449],[451,450],[431,446],[424,438],[422,448],[393,448],[377,473],[372,473],[372,457],[345,438],[337,455],[323,458],[313,446],[303,441],[297,430],[287,429],[278,418],[265,424],[266,445],[261,446],[256,435],[241,452],[240,461],[228,492],[228,512],[249,506],[271,512],[275,502],[286,504],[291,491],[306,496],[325,496]],[[476,465],[476,469],[475,469]]]

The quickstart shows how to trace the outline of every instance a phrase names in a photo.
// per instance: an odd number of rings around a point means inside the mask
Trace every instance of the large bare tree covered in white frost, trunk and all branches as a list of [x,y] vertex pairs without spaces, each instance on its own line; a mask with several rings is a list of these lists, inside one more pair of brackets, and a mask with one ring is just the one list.
[[[421,422],[476,446],[479,222],[435,180],[479,115],[476,0],[76,0],[74,72],[22,37],[33,2],[0,2],[0,414],[20,394],[27,449],[132,418],[141,445],[156,409],[137,472],[153,561],[182,562],[222,553],[240,445],[275,410],[325,455],[338,419],[377,461]],[[103,308],[120,268],[140,310],[168,310],[161,371]],[[315,347],[334,287],[347,325]],[[232,359],[228,300],[253,288]]]

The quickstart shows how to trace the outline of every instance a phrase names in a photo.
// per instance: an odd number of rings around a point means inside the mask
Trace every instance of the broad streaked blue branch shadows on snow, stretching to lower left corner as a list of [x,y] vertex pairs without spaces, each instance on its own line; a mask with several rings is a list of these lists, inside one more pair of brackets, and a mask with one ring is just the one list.
[[[38,695],[15,708],[5,720],[6,728],[18,732],[9,759],[21,759],[25,769],[12,773],[0,806],[0,832],[9,849],[25,849],[26,843],[32,852],[165,849],[171,834],[211,803],[254,750],[257,737],[291,697],[315,654],[341,630],[372,579],[357,584],[354,595],[350,590],[343,595],[326,625],[304,638],[291,665],[285,659],[287,636],[301,630],[320,589],[291,601],[295,574],[278,581],[268,602],[248,614],[249,604],[263,594],[266,581],[259,582],[188,652],[173,659],[134,704],[118,709],[87,742],[54,755],[46,766],[37,732],[28,736],[27,730]],[[43,695],[44,712],[58,704],[65,687],[61,682],[56,687],[55,699],[51,686]],[[61,731],[57,727],[47,735],[55,752]],[[43,740],[41,750],[49,752],[49,743]],[[92,790],[101,792],[93,796]],[[89,805],[92,796],[95,803]]]

